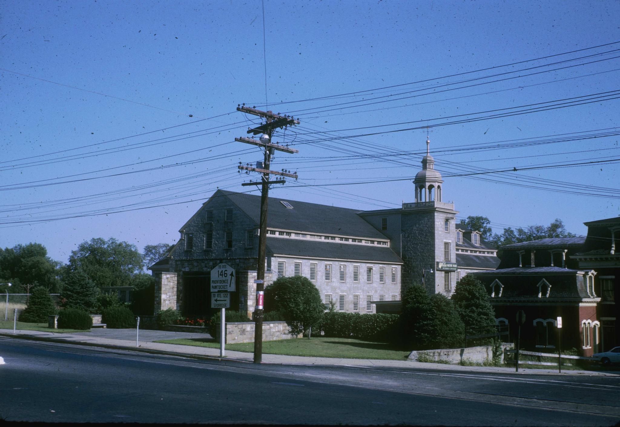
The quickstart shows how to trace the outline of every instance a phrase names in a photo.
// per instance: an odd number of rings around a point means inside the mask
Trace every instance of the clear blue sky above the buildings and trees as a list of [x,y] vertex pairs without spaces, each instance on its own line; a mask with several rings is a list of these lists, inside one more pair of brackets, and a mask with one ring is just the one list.
[[[301,121],[274,138],[299,154],[272,168],[299,181],[273,197],[411,202],[428,125],[459,217],[497,232],[561,218],[584,234],[620,214],[618,163],[604,163],[620,158],[619,2],[265,0],[264,50],[262,7],[4,2],[0,246],[37,241],[66,262],[93,237],[174,243],[218,187],[257,178],[237,173],[260,160],[234,142],[256,122],[243,102]],[[487,117],[531,104],[556,108]]]

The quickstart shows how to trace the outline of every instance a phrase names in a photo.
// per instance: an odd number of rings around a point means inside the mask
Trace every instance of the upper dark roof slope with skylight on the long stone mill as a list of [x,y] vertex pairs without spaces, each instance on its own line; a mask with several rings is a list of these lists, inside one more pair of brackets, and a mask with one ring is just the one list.
[[[252,220],[259,223],[260,196],[219,191]],[[290,203],[293,209],[288,209],[280,201]],[[300,202],[299,200],[279,199],[277,197],[269,197],[268,209],[267,227],[270,228],[387,240],[385,235],[357,215],[361,210]]]

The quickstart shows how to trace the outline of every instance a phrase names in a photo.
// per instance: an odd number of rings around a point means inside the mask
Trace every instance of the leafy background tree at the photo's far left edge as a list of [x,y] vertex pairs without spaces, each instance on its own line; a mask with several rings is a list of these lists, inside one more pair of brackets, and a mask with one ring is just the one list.
[[40,285],[56,293],[62,285],[58,279],[60,265],[47,256],[47,249],[40,243],[0,249],[0,282],[11,282],[12,292],[19,292],[21,285]]

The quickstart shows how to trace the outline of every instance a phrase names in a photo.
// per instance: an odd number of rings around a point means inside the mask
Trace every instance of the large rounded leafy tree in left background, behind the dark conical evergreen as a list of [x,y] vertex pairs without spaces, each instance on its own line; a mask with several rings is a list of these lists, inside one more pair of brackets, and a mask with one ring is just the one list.
[[143,267],[138,248],[115,238],[83,241],[69,256],[69,271],[82,271],[99,287],[131,285]]

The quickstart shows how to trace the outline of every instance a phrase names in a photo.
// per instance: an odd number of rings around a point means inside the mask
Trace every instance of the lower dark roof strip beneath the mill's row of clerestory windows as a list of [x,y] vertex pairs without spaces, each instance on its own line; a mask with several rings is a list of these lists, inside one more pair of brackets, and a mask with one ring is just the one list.
[[355,259],[376,263],[402,263],[402,259],[386,246],[351,245],[278,237],[267,237],[267,253],[299,256],[299,258]]

